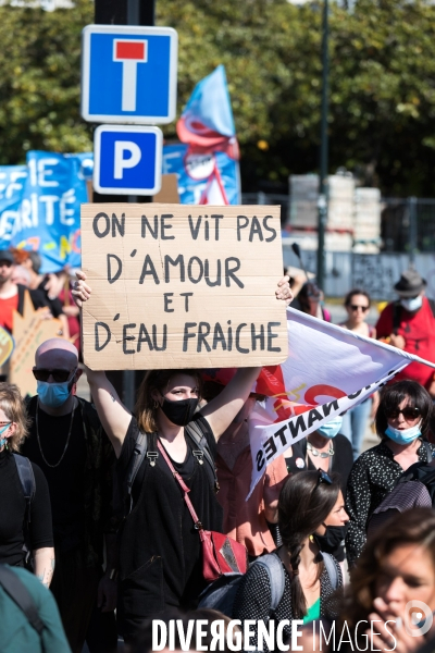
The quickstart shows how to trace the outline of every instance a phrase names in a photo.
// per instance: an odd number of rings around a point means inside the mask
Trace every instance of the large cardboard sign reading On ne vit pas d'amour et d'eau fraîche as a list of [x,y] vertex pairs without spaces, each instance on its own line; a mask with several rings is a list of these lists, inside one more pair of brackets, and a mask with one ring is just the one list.
[[83,205],[82,247],[91,369],[286,359],[279,207]]

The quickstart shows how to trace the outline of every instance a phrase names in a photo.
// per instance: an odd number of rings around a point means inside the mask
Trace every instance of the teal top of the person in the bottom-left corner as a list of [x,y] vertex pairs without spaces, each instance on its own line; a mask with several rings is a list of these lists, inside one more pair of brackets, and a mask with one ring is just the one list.
[[10,567],[25,584],[39,618],[45,625],[41,639],[27,617],[0,586],[0,651],[1,653],[71,653],[54,596],[29,571]]

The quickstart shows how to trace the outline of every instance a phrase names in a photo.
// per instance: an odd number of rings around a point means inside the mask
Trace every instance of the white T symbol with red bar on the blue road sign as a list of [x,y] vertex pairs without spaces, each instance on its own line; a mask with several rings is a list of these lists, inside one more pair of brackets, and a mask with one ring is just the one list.
[[136,111],[137,64],[148,61],[148,41],[115,38],[113,61],[123,64],[122,110]]

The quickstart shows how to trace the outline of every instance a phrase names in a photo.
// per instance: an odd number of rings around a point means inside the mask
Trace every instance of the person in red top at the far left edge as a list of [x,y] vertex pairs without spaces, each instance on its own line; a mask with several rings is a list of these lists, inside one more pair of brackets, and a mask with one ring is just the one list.
[[[12,316],[14,310],[23,315],[24,292],[27,289],[20,283],[12,281],[15,261],[12,251],[0,250],[0,326],[12,332]],[[48,307],[40,291],[28,291],[35,309]]]

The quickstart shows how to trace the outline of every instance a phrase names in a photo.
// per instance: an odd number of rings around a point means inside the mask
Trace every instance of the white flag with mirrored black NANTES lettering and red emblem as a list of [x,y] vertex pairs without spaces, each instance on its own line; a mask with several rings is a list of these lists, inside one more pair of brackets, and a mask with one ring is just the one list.
[[248,497],[269,463],[415,359],[291,308],[287,330],[289,355],[273,372],[277,392],[264,409],[257,405],[249,421],[253,471]]

